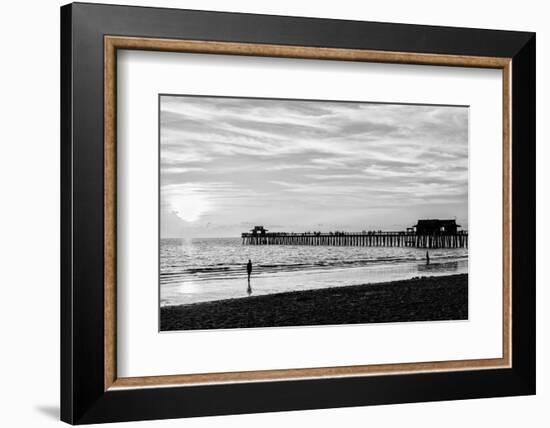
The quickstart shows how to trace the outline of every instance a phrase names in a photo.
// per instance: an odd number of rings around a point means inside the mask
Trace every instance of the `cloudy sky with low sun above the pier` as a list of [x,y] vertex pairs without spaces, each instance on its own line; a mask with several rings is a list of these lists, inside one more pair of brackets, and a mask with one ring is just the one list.
[[468,108],[161,96],[161,236],[468,226]]

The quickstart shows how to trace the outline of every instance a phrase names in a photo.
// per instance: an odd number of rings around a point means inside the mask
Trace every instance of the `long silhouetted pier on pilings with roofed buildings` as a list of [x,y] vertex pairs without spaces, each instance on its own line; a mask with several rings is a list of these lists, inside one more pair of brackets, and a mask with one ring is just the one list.
[[[429,223],[423,223],[429,222]],[[242,234],[243,245],[330,245],[356,247],[468,248],[468,232],[454,220],[419,220],[406,231],[269,232],[255,226]]]

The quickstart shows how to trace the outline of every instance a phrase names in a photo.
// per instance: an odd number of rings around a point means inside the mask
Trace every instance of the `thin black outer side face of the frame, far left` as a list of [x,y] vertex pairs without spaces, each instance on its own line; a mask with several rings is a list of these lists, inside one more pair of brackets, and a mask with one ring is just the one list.
[[61,420],[74,422],[73,417],[73,350],[72,350],[72,8],[60,10],[61,34],[61,82],[60,82],[60,230],[61,230],[61,335],[60,335],[60,416]]

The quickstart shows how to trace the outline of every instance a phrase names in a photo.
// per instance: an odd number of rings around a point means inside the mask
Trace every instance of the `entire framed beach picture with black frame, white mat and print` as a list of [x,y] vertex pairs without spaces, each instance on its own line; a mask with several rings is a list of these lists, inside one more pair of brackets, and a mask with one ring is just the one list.
[[535,393],[535,35],[61,8],[61,417]]

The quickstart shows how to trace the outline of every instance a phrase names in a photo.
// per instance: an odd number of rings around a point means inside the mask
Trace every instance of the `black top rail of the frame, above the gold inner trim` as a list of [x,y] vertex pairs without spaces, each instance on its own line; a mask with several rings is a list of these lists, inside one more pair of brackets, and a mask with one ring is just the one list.
[[[297,16],[72,3],[104,34],[513,57],[532,33]],[[148,19],[152,18],[152,19]],[[162,21],[162,27],[158,23]],[[93,24],[92,24],[93,23]],[[204,24],[208,23],[208,26]],[[84,23],[83,23],[84,24]],[[162,33],[162,35],[160,35]],[[429,33],[429,35],[428,35]],[[277,40],[275,40],[277,39]]]

